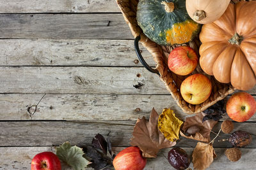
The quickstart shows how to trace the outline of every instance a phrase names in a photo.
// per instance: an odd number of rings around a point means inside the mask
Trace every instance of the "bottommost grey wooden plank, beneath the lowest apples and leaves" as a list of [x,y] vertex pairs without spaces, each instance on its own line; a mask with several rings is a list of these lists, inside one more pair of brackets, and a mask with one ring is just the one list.
[[[118,153],[122,150],[122,147],[113,148],[115,153]],[[193,148],[182,148],[189,155],[192,154]],[[208,168],[209,170],[216,169],[232,169],[232,170],[241,170],[241,169],[255,169],[255,157],[256,149],[253,148],[241,148],[242,157],[237,162],[230,162],[225,156],[226,148],[214,148],[217,157],[214,159],[214,162]],[[163,149],[159,152],[156,159],[147,159],[147,165],[145,170],[166,170],[173,169],[172,166],[168,163],[168,160],[164,158],[164,155],[167,156],[170,149]],[[0,169],[9,170],[9,169],[30,169],[31,159],[40,152],[55,152],[54,147],[12,147],[12,148],[0,148]],[[225,162],[225,163],[224,163]],[[193,168],[193,164],[190,166]],[[62,164],[62,170],[71,170],[65,164]],[[88,169],[89,170],[89,169]]]

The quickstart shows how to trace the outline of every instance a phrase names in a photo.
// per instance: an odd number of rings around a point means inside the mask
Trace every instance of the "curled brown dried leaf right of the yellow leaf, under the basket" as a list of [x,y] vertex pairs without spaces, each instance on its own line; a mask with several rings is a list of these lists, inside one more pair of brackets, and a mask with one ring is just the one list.
[[[182,127],[182,131],[180,131],[180,135],[185,138],[195,139],[197,141],[209,142],[211,140],[210,133],[212,127],[214,127],[214,125],[216,125],[218,121],[207,120],[204,123],[202,123],[204,116],[205,114],[201,112],[196,114],[194,117],[186,118],[186,121],[184,122],[184,125]],[[195,134],[186,135],[186,132],[188,130],[195,127],[199,129],[198,132],[195,132]]]

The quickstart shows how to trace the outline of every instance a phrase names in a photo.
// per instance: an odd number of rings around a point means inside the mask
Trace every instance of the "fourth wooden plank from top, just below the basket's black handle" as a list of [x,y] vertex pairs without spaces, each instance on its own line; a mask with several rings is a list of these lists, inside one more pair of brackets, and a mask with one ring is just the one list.
[[0,72],[1,93],[169,94],[144,67],[0,67]]

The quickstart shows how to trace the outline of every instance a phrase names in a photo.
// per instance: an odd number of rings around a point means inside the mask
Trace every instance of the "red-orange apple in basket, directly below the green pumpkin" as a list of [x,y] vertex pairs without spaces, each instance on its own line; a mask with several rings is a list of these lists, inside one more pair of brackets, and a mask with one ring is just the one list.
[[196,68],[198,57],[196,52],[189,46],[179,46],[172,50],[168,57],[169,69],[179,75],[192,73]]

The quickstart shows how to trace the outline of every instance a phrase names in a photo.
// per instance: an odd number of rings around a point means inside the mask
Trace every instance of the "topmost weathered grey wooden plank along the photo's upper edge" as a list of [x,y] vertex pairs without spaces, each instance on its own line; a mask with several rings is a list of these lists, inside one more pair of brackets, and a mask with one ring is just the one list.
[[115,0],[0,0],[1,13],[120,12]]

